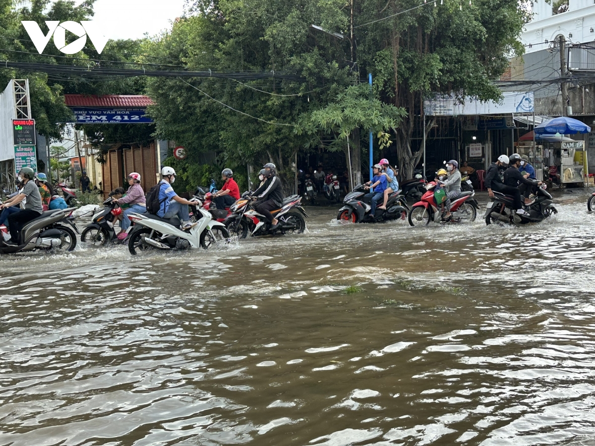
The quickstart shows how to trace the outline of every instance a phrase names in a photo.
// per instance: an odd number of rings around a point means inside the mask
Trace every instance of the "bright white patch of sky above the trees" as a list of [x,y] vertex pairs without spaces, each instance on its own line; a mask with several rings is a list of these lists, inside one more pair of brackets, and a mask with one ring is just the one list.
[[96,0],[95,17],[109,39],[139,39],[164,29],[180,17],[185,0]]

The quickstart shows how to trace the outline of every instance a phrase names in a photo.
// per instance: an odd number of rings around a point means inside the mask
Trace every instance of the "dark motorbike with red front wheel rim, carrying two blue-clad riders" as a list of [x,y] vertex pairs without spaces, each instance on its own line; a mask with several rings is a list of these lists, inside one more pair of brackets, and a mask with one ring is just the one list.
[[[408,207],[400,190],[389,195],[386,202],[386,210],[376,209],[374,218],[370,212],[371,197],[364,197],[368,191],[363,184],[358,184],[343,199],[343,207],[339,209],[337,220],[350,221],[352,223],[372,223],[402,218],[407,214]],[[379,205],[382,203],[378,203]]]

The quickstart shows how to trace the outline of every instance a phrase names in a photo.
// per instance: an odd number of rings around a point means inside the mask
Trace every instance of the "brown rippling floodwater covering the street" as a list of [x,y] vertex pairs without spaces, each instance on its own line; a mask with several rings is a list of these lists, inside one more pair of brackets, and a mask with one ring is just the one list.
[[[0,445],[593,445],[595,215],[2,256]],[[82,227],[81,227],[82,229]]]

